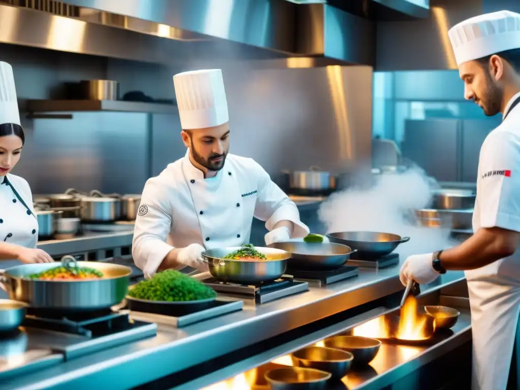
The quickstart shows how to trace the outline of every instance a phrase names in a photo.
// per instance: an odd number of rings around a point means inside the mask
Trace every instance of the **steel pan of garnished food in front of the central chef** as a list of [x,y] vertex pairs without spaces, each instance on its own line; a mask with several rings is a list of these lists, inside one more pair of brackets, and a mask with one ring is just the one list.
[[291,254],[275,248],[246,244],[215,248],[202,252],[210,274],[232,283],[259,283],[280,278],[287,269]]

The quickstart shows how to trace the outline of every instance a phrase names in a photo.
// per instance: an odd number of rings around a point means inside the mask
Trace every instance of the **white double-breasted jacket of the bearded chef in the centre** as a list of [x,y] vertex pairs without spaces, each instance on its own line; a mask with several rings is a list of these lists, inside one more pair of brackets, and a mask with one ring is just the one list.
[[152,275],[173,248],[249,243],[253,216],[268,230],[290,220],[293,238],[309,233],[296,205],[253,159],[228,154],[222,170],[204,178],[188,150],[145,184],[132,243],[135,264]]

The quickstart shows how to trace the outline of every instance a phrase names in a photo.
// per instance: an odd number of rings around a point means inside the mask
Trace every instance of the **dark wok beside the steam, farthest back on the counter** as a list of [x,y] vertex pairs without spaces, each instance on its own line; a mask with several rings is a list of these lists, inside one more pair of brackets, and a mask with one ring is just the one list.
[[410,237],[401,237],[392,233],[374,231],[344,231],[329,233],[331,242],[357,249],[356,257],[377,258],[392,253],[397,245],[407,242]]

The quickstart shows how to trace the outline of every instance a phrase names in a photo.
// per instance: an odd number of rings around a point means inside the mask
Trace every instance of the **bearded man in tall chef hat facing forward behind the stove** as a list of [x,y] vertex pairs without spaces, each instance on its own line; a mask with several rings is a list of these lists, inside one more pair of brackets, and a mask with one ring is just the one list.
[[[145,276],[185,266],[207,270],[205,249],[249,243],[253,216],[266,244],[305,237],[296,205],[253,159],[228,154],[230,126],[222,71],[173,76],[186,155],[148,179],[132,254]],[[240,129],[237,129],[240,131]]]

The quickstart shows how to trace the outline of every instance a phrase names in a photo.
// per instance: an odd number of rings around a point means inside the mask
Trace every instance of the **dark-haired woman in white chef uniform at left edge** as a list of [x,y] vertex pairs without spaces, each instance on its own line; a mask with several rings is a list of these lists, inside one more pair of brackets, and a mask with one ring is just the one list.
[[50,263],[53,258],[36,249],[38,221],[31,188],[9,173],[20,160],[24,141],[12,68],[0,62],[0,261]]

